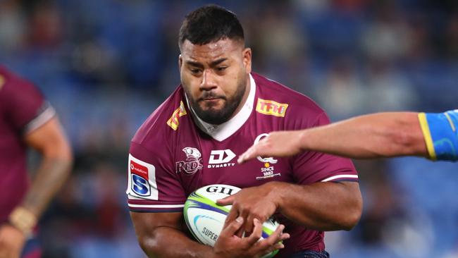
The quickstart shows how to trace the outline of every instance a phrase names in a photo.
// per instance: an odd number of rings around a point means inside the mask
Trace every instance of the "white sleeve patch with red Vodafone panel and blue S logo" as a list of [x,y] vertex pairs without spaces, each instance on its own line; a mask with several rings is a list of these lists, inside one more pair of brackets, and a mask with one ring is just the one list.
[[126,193],[140,199],[157,200],[156,168],[153,164],[136,159],[129,154],[128,189]]

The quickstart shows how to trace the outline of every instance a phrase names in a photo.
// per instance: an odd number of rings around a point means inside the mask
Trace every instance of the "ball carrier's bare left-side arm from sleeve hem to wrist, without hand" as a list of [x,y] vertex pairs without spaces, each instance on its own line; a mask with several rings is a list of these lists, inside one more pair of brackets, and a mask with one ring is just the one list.
[[148,257],[212,257],[212,249],[182,232],[183,214],[130,212],[138,242]]

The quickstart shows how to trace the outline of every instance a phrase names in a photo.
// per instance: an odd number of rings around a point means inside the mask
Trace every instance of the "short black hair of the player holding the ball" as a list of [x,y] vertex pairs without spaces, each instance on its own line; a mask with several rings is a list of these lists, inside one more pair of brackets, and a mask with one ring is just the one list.
[[187,14],[180,27],[180,48],[186,39],[199,45],[220,39],[245,41],[243,27],[235,13],[215,4],[202,6]]

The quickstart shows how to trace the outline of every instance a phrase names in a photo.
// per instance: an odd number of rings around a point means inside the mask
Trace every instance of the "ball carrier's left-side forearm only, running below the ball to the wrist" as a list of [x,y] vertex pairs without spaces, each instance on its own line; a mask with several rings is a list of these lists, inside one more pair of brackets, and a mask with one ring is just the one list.
[[153,233],[138,237],[148,257],[197,258],[213,257],[213,249],[191,240],[178,229],[162,226]]

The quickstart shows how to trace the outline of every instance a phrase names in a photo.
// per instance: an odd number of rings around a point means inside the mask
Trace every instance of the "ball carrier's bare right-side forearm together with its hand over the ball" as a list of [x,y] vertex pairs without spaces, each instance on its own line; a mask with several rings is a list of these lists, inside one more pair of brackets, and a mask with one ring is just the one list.
[[288,219],[318,231],[349,230],[359,221],[361,192],[355,182],[326,182],[311,185],[271,182],[245,188],[235,195],[218,200],[233,204],[227,221],[246,217],[245,231],[251,232],[253,218],[266,221],[279,211]]

